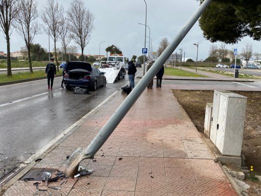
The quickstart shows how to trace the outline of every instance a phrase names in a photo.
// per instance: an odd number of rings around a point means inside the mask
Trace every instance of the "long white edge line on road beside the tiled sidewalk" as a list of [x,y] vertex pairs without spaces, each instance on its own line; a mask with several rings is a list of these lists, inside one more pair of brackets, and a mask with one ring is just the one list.
[[95,113],[98,111],[109,99],[111,99],[112,96],[114,96],[118,92],[113,92],[106,100],[104,100],[102,103],[100,103],[96,108],[94,108],[92,111],[90,111],[88,114],[86,114],[84,117],[82,117],[80,120],[78,120],[76,123],[74,123],[72,126],[70,126],[68,129],[66,129],[63,133],[58,135],[55,139],[53,139],[49,144],[44,146],[42,149],[40,149],[37,153],[35,153],[33,156],[31,156],[29,159],[27,159],[24,163],[29,164],[31,163],[35,158],[37,158],[40,154],[47,151],[50,146],[52,146],[55,142],[57,142],[59,139],[61,139],[63,136],[65,136],[69,131],[71,131],[74,127],[79,125],[82,121],[84,121],[88,116],[90,116],[92,113]]

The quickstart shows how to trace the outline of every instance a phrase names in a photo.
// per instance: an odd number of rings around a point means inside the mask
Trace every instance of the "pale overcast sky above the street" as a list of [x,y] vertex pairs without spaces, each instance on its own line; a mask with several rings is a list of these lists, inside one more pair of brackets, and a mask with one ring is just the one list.
[[[45,7],[46,0],[37,0],[38,10]],[[57,0],[66,11],[72,1]],[[83,0],[87,9],[94,14],[94,30],[90,34],[90,41],[84,49],[85,54],[106,55],[105,48],[114,44],[122,51],[123,55],[131,58],[133,55],[141,56],[142,48],[145,44],[145,24],[146,6],[144,0]],[[196,0],[146,0],[147,2],[147,25],[150,28],[150,37],[152,40],[153,51],[157,51],[163,38],[168,38],[171,42],[180,29],[189,20],[192,14],[199,8],[199,2]],[[41,18],[38,19],[42,23]],[[147,28],[147,36],[149,29]],[[105,43],[101,43],[105,41]],[[149,42],[147,38],[147,42]],[[198,22],[192,27],[183,41],[179,44],[174,53],[180,53],[180,48],[185,52],[186,58],[196,60],[197,47],[193,43],[199,43],[198,60],[204,60],[209,56],[210,46],[213,44],[203,37],[203,32]],[[34,44],[40,44],[48,49],[48,35],[44,32],[36,35]],[[214,43],[220,47],[221,43]],[[249,37],[243,38],[235,45],[226,45],[226,49],[237,48],[240,53],[246,44],[250,44],[254,52],[261,53],[261,45]],[[80,47],[73,41],[69,45]],[[11,35],[11,52],[20,50],[25,46],[22,37],[14,30]],[[57,47],[61,47],[60,41]],[[149,43],[146,44],[149,47]],[[50,48],[54,48],[54,43],[50,40]],[[0,32],[0,51],[7,51],[4,34]],[[184,55],[184,53],[183,53]]]

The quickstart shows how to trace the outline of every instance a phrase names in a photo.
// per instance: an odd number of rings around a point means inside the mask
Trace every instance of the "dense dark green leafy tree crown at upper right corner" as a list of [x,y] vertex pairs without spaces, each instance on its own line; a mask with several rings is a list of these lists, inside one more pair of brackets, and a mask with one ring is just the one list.
[[237,43],[245,36],[260,40],[260,12],[260,1],[216,0],[202,14],[199,25],[211,42]]

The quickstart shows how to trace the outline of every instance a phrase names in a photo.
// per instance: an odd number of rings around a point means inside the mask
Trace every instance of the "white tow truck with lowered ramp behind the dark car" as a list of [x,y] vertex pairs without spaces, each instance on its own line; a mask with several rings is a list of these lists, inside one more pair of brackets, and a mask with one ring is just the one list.
[[107,61],[100,62],[99,70],[104,72],[107,83],[112,84],[116,79],[120,80],[125,77],[125,64],[127,63],[128,58],[122,54],[110,54]]

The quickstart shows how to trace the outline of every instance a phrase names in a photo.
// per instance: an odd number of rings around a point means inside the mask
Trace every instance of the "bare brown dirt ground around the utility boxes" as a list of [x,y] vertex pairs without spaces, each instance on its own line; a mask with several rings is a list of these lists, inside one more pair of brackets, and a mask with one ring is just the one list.
[[[247,97],[242,153],[248,168],[261,173],[261,92],[234,91]],[[213,102],[213,90],[173,90],[199,132],[204,132],[206,103]]]

